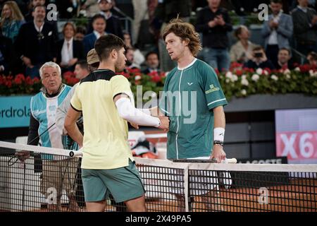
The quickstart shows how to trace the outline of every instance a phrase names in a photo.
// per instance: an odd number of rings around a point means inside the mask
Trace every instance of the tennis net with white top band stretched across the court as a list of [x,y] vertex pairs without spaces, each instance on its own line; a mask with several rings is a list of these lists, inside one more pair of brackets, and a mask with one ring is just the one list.
[[[135,161],[148,211],[317,210],[317,165]],[[0,211],[85,211],[80,162],[70,150],[0,141]],[[105,211],[125,210],[108,198]]]

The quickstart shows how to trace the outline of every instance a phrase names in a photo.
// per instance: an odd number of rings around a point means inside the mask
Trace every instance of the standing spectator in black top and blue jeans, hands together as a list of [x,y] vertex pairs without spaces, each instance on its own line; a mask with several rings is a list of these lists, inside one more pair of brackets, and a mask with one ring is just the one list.
[[201,9],[197,16],[197,32],[203,34],[203,56],[206,63],[219,71],[228,70],[228,32],[232,30],[230,16],[220,8],[221,0],[208,0],[209,6]]

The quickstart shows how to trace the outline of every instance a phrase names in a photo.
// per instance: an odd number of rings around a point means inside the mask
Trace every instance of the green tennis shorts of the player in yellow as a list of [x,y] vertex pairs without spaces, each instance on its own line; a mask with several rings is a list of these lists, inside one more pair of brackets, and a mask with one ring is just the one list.
[[143,196],[142,179],[135,162],[117,169],[82,169],[86,202],[104,201],[112,194],[117,203]]

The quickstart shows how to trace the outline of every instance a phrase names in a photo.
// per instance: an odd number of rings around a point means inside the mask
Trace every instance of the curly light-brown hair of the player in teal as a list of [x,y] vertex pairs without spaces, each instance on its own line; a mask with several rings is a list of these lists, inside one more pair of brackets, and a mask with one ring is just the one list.
[[170,20],[170,23],[163,31],[163,40],[170,33],[174,33],[180,37],[181,40],[189,40],[188,48],[194,57],[197,57],[198,52],[202,49],[199,34],[195,31],[195,28],[190,23],[186,23],[181,19]]

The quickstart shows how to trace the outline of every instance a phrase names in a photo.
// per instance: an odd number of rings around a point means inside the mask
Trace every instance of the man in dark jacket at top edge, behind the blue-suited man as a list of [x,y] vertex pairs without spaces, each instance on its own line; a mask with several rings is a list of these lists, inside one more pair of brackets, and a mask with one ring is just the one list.
[[121,28],[120,20],[117,16],[111,13],[113,0],[99,0],[98,6],[100,9],[99,14],[106,18],[106,32],[123,38],[123,29]]

